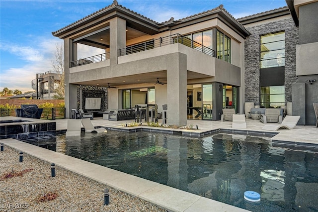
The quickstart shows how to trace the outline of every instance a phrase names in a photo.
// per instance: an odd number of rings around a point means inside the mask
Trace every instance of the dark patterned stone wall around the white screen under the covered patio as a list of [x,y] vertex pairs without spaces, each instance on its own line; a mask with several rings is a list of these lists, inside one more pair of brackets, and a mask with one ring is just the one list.
[[[81,90],[81,97],[80,97]],[[101,98],[101,108],[100,110],[105,111],[108,106],[108,98],[107,98],[107,88],[105,87],[97,87],[97,86],[78,86],[78,109],[84,108],[85,98]],[[80,106],[80,99],[82,99],[82,106]]]

